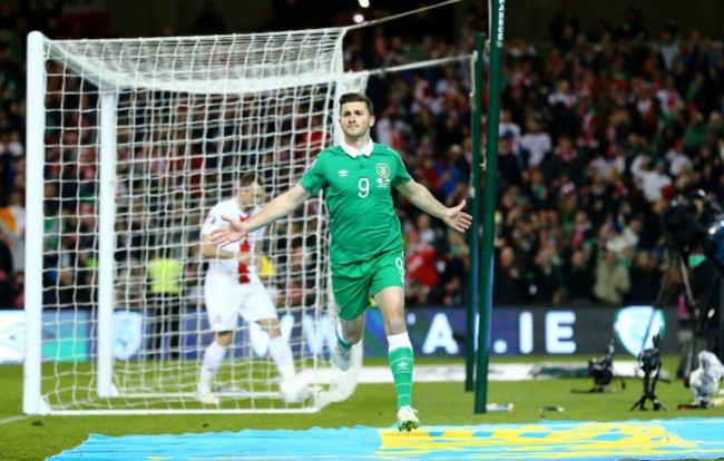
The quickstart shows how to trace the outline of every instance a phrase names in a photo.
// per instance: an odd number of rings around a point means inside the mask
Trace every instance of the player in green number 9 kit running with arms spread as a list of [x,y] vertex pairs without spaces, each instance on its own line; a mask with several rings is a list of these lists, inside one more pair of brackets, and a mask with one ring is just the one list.
[[363,94],[340,98],[340,125],[344,141],[323,149],[299,184],[270,202],[243,223],[228,223],[212,233],[212,243],[224,246],[284,217],[322,190],[329,212],[332,290],[340,323],[333,361],[350,367],[351,349],[364,331],[364,312],[374,298],[384,322],[389,362],[398,395],[398,428],[420,425],[412,409],[413,352],[404,316],[404,256],[400,219],[391,189],[395,188],[423,212],[458,232],[470,227],[466,202],[448,208],[410,177],[399,154],[370,137],[374,125],[372,101]]

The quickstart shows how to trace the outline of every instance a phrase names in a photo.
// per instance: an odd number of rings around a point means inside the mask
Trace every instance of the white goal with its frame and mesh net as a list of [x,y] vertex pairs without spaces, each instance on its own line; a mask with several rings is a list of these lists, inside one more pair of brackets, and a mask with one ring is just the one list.
[[[195,399],[213,340],[199,230],[208,209],[256,171],[268,197],[292,187],[339,140],[344,28],[28,42],[28,414],[313,412],[356,385],[330,363],[334,313],[319,199],[267,228],[262,275],[278,307],[303,403],[280,398],[268,337],[239,318],[216,380]],[[148,268],[182,271],[159,307]],[[180,267],[180,268],[179,268]]]

